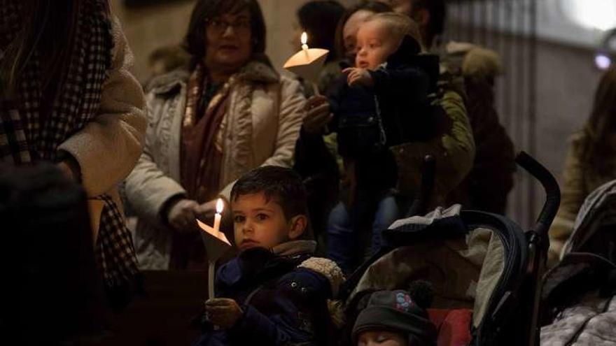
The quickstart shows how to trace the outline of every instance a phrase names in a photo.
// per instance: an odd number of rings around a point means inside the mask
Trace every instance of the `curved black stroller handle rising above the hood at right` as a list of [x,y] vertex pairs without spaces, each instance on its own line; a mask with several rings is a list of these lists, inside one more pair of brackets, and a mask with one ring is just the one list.
[[556,212],[561,203],[561,190],[558,182],[556,182],[554,175],[547,171],[547,168],[524,151],[517,154],[515,161],[521,168],[524,168],[525,171],[539,180],[543,189],[545,189],[545,203],[537,218],[534,230],[541,236],[547,235],[549,226],[556,217]]

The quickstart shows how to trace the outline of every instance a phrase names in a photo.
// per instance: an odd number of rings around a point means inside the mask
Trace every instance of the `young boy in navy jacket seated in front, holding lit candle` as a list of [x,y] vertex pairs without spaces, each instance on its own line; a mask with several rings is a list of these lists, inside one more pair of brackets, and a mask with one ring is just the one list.
[[[299,175],[265,166],[231,192],[239,255],[221,266],[216,298],[195,345],[328,345],[327,299],[342,272],[304,233],[306,193]],[[218,330],[213,326],[218,326]]]

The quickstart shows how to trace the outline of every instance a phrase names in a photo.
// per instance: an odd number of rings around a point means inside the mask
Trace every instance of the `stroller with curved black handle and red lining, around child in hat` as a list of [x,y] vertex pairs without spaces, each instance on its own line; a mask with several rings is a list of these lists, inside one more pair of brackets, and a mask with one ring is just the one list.
[[437,345],[538,345],[540,277],[560,191],[528,154],[521,152],[516,161],[547,195],[535,226],[524,231],[503,216],[460,206],[398,220],[383,233],[386,245],[339,293],[347,335],[364,297],[422,279],[433,284],[434,309],[428,312],[439,329]]

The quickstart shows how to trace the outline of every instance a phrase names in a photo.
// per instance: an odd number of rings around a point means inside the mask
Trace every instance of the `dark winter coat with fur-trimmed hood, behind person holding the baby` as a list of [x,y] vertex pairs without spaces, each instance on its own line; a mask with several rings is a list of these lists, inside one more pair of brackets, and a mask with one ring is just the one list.
[[500,124],[494,106],[493,82],[500,73],[496,52],[475,45],[447,45],[443,60],[447,70],[464,80],[468,120],[475,138],[475,161],[449,203],[465,208],[503,214],[513,188],[514,144]]

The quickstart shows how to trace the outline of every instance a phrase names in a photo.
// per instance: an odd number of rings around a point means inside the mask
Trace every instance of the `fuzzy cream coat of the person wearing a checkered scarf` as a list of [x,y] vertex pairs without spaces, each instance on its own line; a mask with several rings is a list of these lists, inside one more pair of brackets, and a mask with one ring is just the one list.
[[[69,152],[78,161],[88,197],[108,194],[121,207],[118,184],[139,159],[147,122],[144,92],[130,73],[133,55],[117,18],[112,29],[111,69],[103,85],[99,115],[59,145],[58,150]],[[96,238],[104,202],[89,199],[88,206]]]

